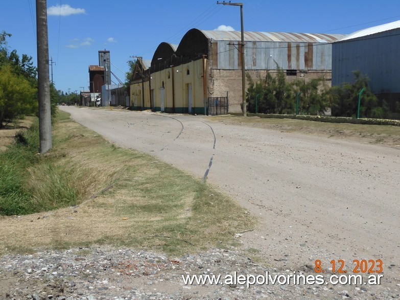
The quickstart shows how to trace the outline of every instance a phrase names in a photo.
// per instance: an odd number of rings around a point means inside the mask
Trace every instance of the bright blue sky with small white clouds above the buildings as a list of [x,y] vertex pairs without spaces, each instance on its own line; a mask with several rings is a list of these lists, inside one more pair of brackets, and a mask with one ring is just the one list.
[[[400,19],[399,0],[241,2],[245,31],[347,34]],[[130,56],[151,59],[159,43],[178,44],[191,28],[240,31],[239,7],[214,0],[47,0],[47,6],[53,78],[67,92],[88,89],[88,66],[99,63],[99,50],[110,51],[111,71],[125,82]],[[36,65],[35,0],[2,1],[3,30],[12,34],[9,49],[32,56]]]

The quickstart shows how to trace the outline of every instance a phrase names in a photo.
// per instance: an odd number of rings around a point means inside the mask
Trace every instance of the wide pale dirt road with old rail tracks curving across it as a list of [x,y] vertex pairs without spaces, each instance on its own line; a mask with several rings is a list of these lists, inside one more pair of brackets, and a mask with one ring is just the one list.
[[[261,220],[240,238],[280,269],[384,264],[400,283],[400,151],[204,116],[62,107],[116,144],[216,184]],[[210,168],[209,168],[210,167]],[[392,266],[391,266],[392,265]],[[371,266],[370,264],[368,266]],[[337,265],[338,267],[338,265]]]

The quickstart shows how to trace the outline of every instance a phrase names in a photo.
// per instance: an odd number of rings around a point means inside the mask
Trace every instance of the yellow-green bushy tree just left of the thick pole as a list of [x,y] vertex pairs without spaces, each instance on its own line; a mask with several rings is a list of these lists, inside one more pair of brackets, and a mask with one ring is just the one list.
[[37,111],[36,89],[10,65],[0,66],[0,128],[13,120]]

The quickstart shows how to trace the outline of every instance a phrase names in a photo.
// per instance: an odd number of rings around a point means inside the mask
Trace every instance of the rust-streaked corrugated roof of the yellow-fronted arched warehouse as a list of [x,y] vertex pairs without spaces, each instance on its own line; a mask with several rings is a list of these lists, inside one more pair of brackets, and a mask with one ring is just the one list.
[[[207,38],[215,40],[240,41],[240,31],[219,31],[200,30]],[[311,43],[332,43],[343,37],[345,34],[324,34],[324,33],[286,33],[286,32],[244,32],[245,41],[272,41],[272,42],[311,42]]]

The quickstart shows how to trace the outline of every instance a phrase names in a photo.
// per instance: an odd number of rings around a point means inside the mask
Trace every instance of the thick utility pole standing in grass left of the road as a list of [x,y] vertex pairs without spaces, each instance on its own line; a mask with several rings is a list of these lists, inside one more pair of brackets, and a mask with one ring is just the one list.
[[36,24],[39,96],[39,152],[42,154],[46,153],[53,147],[46,0],[36,0]]

